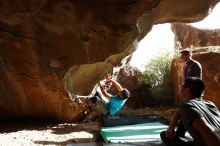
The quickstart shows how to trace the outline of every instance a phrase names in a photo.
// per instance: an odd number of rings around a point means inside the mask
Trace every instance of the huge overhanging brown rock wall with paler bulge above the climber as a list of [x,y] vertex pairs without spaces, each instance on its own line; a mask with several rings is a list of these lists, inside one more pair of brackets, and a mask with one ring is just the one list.
[[69,94],[88,94],[153,24],[198,21],[216,3],[0,1],[0,119],[79,119]]

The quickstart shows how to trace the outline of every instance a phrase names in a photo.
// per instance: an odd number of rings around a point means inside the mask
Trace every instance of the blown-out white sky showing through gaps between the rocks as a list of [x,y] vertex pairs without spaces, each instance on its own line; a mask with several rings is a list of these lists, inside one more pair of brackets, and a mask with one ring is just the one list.
[[[218,29],[220,28],[220,3],[218,3],[212,12],[202,21],[191,23],[197,28]],[[161,51],[174,51],[174,34],[171,31],[170,24],[154,25],[152,30],[145,36],[134,52],[131,65],[144,70],[144,66],[152,58],[159,55]]]

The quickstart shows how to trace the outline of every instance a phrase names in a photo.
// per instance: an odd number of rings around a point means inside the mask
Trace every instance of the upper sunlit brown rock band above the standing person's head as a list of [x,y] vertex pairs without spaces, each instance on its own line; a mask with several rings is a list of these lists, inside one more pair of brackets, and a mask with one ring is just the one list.
[[172,31],[175,41],[179,41],[183,48],[220,45],[220,29],[198,29],[185,23],[174,23]]

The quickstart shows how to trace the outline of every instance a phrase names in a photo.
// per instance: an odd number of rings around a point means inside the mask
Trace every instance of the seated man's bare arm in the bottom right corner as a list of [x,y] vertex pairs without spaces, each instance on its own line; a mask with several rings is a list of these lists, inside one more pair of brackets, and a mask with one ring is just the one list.
[[220,135],[217,134],[215,129],[203,117],[196,118],[192,124],[208,146],[220,146]]

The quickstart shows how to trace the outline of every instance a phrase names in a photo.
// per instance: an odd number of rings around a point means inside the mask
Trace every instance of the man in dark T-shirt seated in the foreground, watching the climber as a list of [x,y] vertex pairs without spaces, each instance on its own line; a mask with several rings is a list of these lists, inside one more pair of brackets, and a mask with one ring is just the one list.
[[220,112],[214,103],[202,99],[204,90],[205,84],[200,78],[189,77],[184,80],[180,90],[182,102],[179,105],[178,119],[193,140],[187,141],[176,135],[174,129],[167,129],[160,134],[165,144],[168,146],[220,145]]

